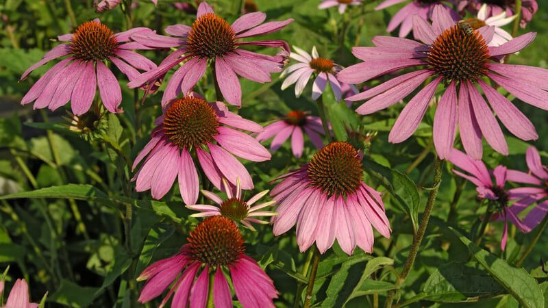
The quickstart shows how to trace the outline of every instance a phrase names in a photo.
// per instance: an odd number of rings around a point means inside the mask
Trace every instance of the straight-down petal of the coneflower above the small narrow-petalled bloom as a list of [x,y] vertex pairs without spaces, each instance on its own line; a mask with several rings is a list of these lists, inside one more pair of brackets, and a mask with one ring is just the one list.
[[179,192],[181,192],[181,198],[183,198],[185,204],[195,204],[198,200],[200,182],[194,161],[186,149],[181,151],[179,164]]

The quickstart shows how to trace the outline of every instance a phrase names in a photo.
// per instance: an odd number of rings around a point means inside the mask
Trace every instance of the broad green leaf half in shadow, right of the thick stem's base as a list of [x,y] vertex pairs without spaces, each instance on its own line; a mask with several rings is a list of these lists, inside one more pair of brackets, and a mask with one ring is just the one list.
[[458,262],[437,268],[423,287],[426,299],[443,303],[468,302],[501,293],[503,287],[488,272]]

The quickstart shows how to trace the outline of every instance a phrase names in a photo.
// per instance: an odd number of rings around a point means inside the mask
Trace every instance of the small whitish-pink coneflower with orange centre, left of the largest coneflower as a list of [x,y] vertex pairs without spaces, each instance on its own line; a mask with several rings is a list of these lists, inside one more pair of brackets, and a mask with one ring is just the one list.
[[[314,75],[316,78],[312,85],[312,99],[315,101],[320,97],[323,90],[325,90],[327,81],[329,81],[329,85],[335,94],[335,99],[340,101],[343,97],[343,84],[337,80],[336,73],[342,69],[341,66],[335,64],[332,60],[320,57],[315,46],[312,47],[312,56],[299,47],[294,46],[293,49],[297,53],[290,53],[289,57],[297,60],[299,63],[288,66],[282,72],[282,75],[280,75],[280,77],[287,76],[282,83],[282,90],[295,84],[295,96],[300,97],[306,84],[308,84],[310,76]],[[357,89],[355,90],[355,92],[358,92]]]

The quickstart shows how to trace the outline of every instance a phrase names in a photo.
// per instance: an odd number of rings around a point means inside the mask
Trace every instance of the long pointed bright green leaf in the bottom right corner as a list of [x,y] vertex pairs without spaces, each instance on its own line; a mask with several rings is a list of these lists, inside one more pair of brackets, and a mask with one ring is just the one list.
[[486,268],[486,270],[498,281],[525,308],[543,308],[544,295],[538,287],[536,280],[523,268],[514,268],[503,259],[491,255],[464,235],[449,227],[460,241],[468,247],[474,259]]

